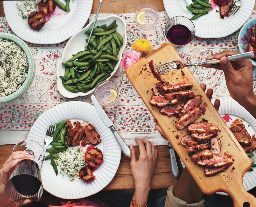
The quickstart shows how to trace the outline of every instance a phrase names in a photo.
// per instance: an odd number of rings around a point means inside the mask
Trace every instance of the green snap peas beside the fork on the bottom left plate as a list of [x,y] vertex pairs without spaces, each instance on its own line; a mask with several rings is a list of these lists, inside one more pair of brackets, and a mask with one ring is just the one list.
[[51,129],[56,126],[56,129],[53,132],[53,141],[51,142],[52,147],[46,150],[46,152],[49,152],[50,154],[45,157],[45,160],[51,160],[51,165],[53,166],[56,175],[58,175],[58,169],[54,159],[59,157],[59,152],[63,152],[69,147],[67,144],[69,128],[66,125],[66,121],[62,121],[51,126]]

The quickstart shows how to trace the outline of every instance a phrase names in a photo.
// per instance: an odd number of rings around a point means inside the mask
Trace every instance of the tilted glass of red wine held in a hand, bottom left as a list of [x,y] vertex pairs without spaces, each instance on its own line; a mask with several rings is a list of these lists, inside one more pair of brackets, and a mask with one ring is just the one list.
[[38,164],[42,162],[42,146],[33,140],[24,140],[16,144],[13,152],[25,151],[34,155],[34,160],[21,160],[11,172],[5,186],[6,195],[17,204],[25,200],[38,201],[43,194],[43,185]]

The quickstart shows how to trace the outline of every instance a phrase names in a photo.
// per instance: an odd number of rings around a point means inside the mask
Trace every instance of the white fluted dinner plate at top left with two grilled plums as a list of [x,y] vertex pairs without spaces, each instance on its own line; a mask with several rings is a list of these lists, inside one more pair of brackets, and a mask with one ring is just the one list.
[[[65,1],[61,1],[65,2]],[[70,1],[70,12],[66,13],[58,6],[52,15],[45,16],[46,23],[39,30],[33,30],[27,19],[19,16],[17,1],[4,1],[3,9],[11,30],[21,39],[35,44],[55,44],[65,41],[83,28],[93,6],[93,0]]]

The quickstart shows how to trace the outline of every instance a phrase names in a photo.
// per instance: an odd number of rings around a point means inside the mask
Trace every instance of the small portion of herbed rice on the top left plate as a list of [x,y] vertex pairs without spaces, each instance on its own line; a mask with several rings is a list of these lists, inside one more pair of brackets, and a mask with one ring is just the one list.
[[18,9],[18,15],[22,19],[27,19],[29,15],[34,11],[39,11],[38,9],[39,1],[17,1],[16,7]]

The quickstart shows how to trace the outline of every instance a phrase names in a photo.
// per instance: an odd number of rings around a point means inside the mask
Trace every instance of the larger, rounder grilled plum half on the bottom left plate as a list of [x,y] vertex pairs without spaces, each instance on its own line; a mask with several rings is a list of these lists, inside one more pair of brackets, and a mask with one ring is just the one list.
[[98,167],[103,160],[103,154],[98,148],[91,148],[85,152],[85,161],[91,167]]

